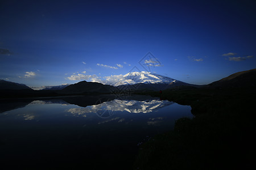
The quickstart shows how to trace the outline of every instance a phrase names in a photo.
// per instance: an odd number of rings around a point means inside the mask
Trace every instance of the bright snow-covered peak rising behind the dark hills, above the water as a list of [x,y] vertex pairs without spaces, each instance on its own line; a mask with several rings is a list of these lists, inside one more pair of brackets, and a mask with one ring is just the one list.
[[176,82],[176,80],[172,78],[168,78],[167,76],[153,74],[147,71],[132,72],[132,73],[127,73],[125,75],[118,75],[118,76],[110,76],[106,80],[106,84],[110,84],[112,86],[131,85],[131,84],[137,84],[137,83],[170,84],[173,82]]

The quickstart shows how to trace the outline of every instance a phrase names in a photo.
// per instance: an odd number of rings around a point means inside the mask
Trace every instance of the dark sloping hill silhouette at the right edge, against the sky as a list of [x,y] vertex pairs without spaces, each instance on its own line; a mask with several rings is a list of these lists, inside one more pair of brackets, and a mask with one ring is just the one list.
[[241,71],[207,85],[209,88],[256,87],[256,69]]

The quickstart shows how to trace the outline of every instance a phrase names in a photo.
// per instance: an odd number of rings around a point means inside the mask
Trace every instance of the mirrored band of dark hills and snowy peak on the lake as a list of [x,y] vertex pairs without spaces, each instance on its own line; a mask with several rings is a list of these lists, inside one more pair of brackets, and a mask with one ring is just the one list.
[[[80,107],[75,112],[96,113],[102,111],[127,111],[130,113],[148,113],[152,110],[172,104],[172,102],[158,100],[158,97],[127,96],[117,100],[115,95],[52,97],[34,99],[5,99],[0,100],[0,113],[26,107],[28,104],[75,104]],[[122,97],[118,97],[121,99]]]

